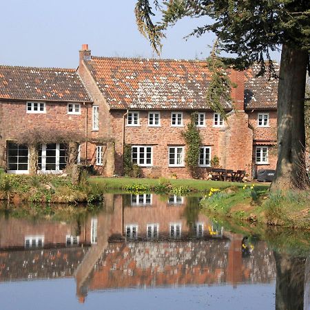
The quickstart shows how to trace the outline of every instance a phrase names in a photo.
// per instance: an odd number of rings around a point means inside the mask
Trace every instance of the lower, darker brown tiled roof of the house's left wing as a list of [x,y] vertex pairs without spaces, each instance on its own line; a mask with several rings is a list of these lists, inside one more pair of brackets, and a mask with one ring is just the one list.
[[0,65],[0,99],[92,101],[74,69]]

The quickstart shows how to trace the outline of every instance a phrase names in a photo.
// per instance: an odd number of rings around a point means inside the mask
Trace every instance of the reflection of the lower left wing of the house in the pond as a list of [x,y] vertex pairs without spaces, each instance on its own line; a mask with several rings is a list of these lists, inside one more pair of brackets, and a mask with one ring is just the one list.
[[72,277],[91,243],[84,223],[0,218],[0,282]]

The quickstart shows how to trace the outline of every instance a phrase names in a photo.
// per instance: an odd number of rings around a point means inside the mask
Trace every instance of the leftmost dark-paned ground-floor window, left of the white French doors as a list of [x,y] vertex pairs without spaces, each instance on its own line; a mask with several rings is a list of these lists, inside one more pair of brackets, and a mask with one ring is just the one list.
[[7,145],[8,173],[28,173],[28,146],[13,142]]

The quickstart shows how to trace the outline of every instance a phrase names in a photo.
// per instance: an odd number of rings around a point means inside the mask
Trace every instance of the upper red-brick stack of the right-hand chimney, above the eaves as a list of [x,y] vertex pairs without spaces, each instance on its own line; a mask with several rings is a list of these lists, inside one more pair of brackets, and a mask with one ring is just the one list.
[[231,87],[231,99],[233,101],[234,110],[245,110],[245,72],[231,70],[230,73],[231,83],[237,87]]

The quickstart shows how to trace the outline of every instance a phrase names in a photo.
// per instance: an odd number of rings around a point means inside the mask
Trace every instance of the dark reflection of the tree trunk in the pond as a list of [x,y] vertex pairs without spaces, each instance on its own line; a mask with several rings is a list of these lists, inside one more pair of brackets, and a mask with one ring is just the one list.
[[273,252],[276,259],[276,310],[304,309],[306,258]]

